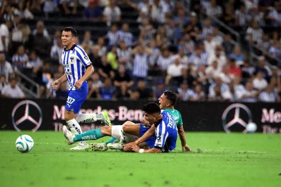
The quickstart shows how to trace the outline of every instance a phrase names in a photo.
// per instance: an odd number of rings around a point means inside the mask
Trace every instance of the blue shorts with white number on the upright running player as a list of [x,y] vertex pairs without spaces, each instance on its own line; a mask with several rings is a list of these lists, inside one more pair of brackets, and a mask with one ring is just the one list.
[[81,89],[68,90],[68,97],[66,99],[65,110],[73,111],[74,114],[78,114],[82,104],[87,98],[88,91],[89,90],[87,82],[84,82],[84,84],[81,86]]

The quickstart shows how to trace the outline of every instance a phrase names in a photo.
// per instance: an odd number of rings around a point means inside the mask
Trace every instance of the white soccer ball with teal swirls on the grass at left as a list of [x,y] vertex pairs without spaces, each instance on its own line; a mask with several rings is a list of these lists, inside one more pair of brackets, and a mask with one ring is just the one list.
[[33,147],[34,147],[33,139],[26,134],[21,135],[16,140],[16,148],[20,153],[28,153],[33,149]]

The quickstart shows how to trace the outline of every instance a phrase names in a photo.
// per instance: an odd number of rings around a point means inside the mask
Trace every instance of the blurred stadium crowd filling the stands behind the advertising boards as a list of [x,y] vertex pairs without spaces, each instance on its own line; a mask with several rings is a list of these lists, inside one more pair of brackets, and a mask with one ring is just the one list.
[[[273,0],[197,0],[189,10],[183,1],[143,0],[3,0],[0,1],[0,91],[2,97],[23,98],[17,72],[40,85],[40,98],[66,98],[68,83],[53,90],[64,74],[61,30],[49,33],[42,20],[32,30],[26,20],[60,13],[69,18],[105,22],[108,32],[76,38],[95,72],[87,98],[151,99],[177,91],[184,101],[280,102],[281,71],[261,54],[249,63],[247,51],[232,35],[220,35],[212,19],[245,31],[245,43],[281,58],[281,2]],[[121,7],[121,8],[120,8]],[[122,22],[122,7],[138,12],[138,28]],[[208,15],[202,22],[199,14]],[[80,15],[79,14],[79,15]],[[56,19],[56,18],[54,18]],[[121,24],[120,24],[121,22]],[[64,25],[71,26],[71,25]],[[265,33],[261,26],[276,28]],[[77,29],[77,28],[76,28]],[[138,34],[131,32],[138,29]],[[56,62],[56,63],[53,63]]]

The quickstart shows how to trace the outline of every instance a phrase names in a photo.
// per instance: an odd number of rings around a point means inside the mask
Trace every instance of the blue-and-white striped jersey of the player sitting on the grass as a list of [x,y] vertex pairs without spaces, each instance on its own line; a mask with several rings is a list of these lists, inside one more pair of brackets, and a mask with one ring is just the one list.
[[170,152],[176,148],[178,129],[174,117],[167,111],[162,111],[162,119],[155,125],[155,148],[161,148],[162,152]]

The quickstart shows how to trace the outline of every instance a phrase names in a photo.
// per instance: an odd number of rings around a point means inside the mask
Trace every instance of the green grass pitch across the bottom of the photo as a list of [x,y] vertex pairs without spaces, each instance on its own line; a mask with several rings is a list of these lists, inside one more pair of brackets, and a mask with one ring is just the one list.
[[[16,150],[20,134],[34,139],[30,153]],[[0,131],[0,186],[281,186],[280,134],[186,138],[192,153],[181,153],[178,140],[172,153],[140,154],[69,150],[53,131]]]

